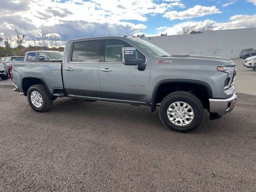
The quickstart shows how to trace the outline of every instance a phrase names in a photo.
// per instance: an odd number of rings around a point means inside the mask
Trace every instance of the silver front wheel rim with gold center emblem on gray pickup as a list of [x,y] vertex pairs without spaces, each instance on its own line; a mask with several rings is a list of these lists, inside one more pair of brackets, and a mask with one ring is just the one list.
[[167,109],[167,116],[174,125],[186,126],[194,119],[194,110],[186,102],[174,102]]

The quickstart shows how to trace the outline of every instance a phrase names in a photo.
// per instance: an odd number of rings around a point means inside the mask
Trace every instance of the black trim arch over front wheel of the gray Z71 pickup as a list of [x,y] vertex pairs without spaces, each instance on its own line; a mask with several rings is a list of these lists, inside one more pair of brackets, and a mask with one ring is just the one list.
[[212,98],[212,88],[206,82],[199,81],[199,80],[190,80],[190,79],[166,79],[166,80],[161,80],[160,82],[158,82],[156,84],[156,86],[153,90],[151,103],[150,103],[150,107],[151,107],[152,112],[154,112],[156,110],[155,99],[156,99],[157,90],[158,90],[159,86],[164,84],[164,83],[192,83],[192,84],[202,85],[206,88],[206,90],[208,92],[208,95],[209,95],[209,98]]

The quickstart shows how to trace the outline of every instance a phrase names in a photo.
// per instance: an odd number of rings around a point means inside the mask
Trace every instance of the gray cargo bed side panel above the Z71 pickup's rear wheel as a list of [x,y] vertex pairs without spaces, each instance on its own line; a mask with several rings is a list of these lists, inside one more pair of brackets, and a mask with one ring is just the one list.
[[61,61],[38,61],[38,62],[13,62],[13,81],[22,88],[24,78],[39,78],[47,86],[52,94],[54,88],[63,88],[62,62]]

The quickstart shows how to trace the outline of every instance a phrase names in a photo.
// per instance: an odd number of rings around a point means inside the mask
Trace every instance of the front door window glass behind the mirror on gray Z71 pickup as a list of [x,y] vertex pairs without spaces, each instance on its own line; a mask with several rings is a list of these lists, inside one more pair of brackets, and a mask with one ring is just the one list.
[[[122,40],[106,40],[105,62],[122,62],[122,48],[124,47],[132,46]],[[140,52],[136,51],[136,56],[145,62],[145,57]]]

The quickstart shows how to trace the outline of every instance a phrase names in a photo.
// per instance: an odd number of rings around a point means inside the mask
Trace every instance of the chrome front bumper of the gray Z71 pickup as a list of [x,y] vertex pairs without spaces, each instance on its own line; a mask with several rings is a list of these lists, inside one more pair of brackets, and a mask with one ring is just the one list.
[[228,112],[231,112],[236,106],[237,94],[234,92],[232,97],[227,99],[209,99],[210,113],[218,114],[222,116]]

